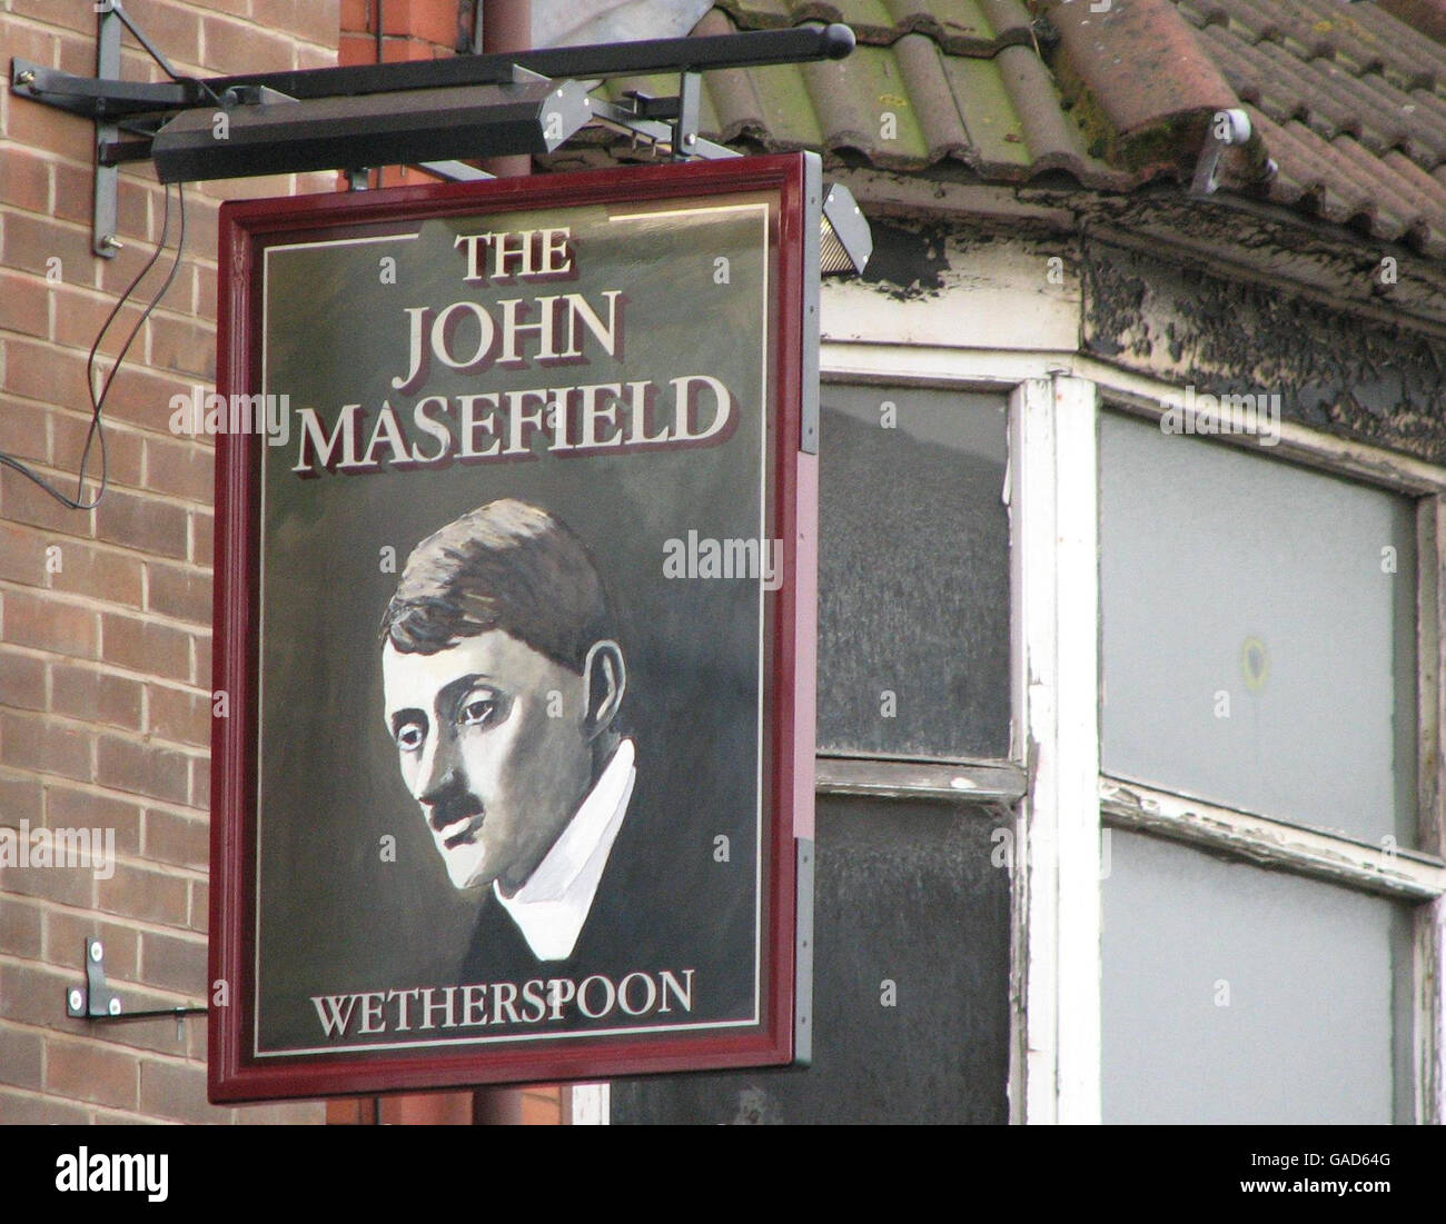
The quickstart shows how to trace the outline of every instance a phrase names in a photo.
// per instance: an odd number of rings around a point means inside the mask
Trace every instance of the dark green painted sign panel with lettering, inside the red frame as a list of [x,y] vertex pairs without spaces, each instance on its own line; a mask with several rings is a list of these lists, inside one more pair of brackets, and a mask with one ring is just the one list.
[[[567,202],[266,249],[266,318],[328,322],[324,344],[268,324],[265,386],[299,423],[252,457],[254,633],[227,639],[254,647],[239,720],[254,744],[233,749],[254,756],[254,796],[233,803],[256,861],[239,964],[259,1065],[515,1062],[772,1023],[791,588],[777,564],[674,562],[680,540],[762,558],[785,538],[775,211],[762,192],[685,212]],[[573,299],[521,263],[467,279],[471,238],[544,230],[570,236],[583,303],[589,369],[565,379],[535,311],[557,308],[562,351]],[[379,259],[408,296],[376,295]],[[727,327],[697,334],[678,305],[698,293]],[[531,314],[513,316],[519,295]],[[385,340],[354,342],[357,303],[390,319]],[[521,364],[450,360],[509,318]],[[428,374],[401,392],[418,335]]]

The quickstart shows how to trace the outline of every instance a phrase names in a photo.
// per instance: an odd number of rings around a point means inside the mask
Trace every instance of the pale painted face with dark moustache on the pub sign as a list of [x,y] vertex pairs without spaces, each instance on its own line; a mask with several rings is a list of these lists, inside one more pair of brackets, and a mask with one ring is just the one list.
[[382,678],[402,777],[453,884],[515,892],[593,780],[583,678],[496,629],[435,655],[388,642]]

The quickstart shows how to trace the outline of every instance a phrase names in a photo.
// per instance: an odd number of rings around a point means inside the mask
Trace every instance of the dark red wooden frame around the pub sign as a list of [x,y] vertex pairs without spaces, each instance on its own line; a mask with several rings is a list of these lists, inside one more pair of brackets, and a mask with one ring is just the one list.
[[[771,337],[775,445],[766,475],[769,529],[782,543],[782,584],[766,598],[772,675],[762,775],[766,831],[758,941],[758,1023],[696,1035],[573,1035],[479,1052],[435,1049],[405,1056],[347,1048],[266,1061],[252,1053],[256,1026],[257,803],[260,738],[259,587],[260,465],[265,439],[218,434],[215,454],[215,621],[213,688],[228,695],[214,720],[211,754],[210,977],[226,1006],[208,1016],[210,1098],[257,1101],[495,1082],[600,1079],[617,1075],[779,1065],[795,1058],[807,994],[797,999],[795,938],[800,840],[813,837],[817,457],[800,445],[807,387],[817,369],[817,159],[808,155],[558,173],[484,184],[230,202],[220,221],[217,390],[259,390],[260,256],[270,244],[369,233],[398,220],[447,218],[567,207],[771,192],[777,331]],[[367,227],[372,227],[369,230]],[[811,234],[810,234],[811,230]],[[811,240],[810,240],[811,238]],[[816,402],[816,399],[814,399]],[[811,916],[805,916],[805,926]],[[805,962],[807,962],[805,952]],[[804,981],[807,991],[807,980]]]

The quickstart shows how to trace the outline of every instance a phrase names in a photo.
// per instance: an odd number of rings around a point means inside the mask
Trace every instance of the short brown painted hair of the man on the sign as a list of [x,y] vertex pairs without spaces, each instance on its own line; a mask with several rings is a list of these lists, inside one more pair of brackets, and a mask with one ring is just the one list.
[[469,510],[412,549],[380,640],[435,655],[492,629],[578,673],[594,642],[616,639],[587,546],[547,510],[512,499]]

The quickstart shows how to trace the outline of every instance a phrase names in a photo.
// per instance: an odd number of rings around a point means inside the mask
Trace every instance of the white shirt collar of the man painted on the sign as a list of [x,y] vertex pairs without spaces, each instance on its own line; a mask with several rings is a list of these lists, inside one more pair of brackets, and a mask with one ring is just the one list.
[[493,883],[493,893],[539,961],[565,961],[573,955],[636,776],[633,741],[623,740],[526,883],[510,897]]

